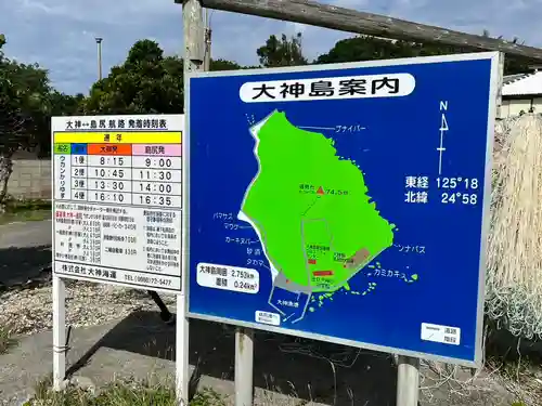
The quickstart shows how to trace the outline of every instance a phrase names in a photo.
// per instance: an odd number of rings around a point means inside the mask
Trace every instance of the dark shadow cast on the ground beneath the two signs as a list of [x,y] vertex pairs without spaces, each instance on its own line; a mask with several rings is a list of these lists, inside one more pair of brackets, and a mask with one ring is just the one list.
[[[190,343],[190,364],[196,366],[193,383],[202,375],[233,380],[235,344],[231,328],[192,320]],[[100,348],[173,361],[175,327],[166,328],[157,313],[136,312],[106,333],[67,374],[83,367]],[[325,357],[351,366],[334,366]],[[255,337],[255,387],[300,400],[336,406],[392,406],[397,377],[392,365],[390,357],[374,352],[359,353],[346,346],[300,342],[266,332]],[[194,390],[195,384],[192,387]]]

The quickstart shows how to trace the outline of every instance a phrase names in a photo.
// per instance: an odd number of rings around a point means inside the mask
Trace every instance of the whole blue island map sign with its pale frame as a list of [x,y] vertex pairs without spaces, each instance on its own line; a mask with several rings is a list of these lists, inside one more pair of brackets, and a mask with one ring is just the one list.
[[188,78],[189,315],[479,364],[499,58]]

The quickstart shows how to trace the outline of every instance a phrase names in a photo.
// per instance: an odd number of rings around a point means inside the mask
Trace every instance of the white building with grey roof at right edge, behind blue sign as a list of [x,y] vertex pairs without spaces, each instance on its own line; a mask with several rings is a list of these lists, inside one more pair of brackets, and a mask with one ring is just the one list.
[[542,70],[503,78],[501,117],[542,113]]

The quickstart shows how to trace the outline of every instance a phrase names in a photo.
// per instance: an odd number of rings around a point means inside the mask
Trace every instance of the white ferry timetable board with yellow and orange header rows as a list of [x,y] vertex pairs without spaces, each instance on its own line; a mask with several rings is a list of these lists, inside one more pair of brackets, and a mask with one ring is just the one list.
[[52,118],[53,270],[181,290],[182,115]]

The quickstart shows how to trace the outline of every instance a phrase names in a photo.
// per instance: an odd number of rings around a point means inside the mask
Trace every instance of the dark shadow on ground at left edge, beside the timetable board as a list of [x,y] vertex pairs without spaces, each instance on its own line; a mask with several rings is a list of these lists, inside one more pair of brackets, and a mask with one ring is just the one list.
[[51,266],[51,246],[0,249],[0,291],[38,278]]

